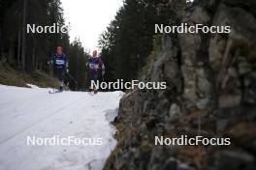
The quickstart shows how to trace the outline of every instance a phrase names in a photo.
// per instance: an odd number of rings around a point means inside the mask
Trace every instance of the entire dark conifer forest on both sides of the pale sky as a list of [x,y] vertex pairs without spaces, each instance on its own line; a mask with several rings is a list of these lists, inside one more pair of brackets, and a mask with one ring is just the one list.
[[[154,33],[155,24],[177,23],[187,1],[124,0],[123,6],[99,37],[101,58],[106,65],[105,81],[130,81],[144,76],[156,58],[162,35]],[[56,46],[63,46],[70,64],[70,88],[82,90],[88,85],[85,67],[88,53],[80,40],[70,42],[69,33],[26,34],[26,24],[65,25],[61,0],[0,1],[0,59],[18,71],[50,72],[48,61]],[[173,15],[173,19],[170,19]],[[69,27],[69,25],[67,25]]]

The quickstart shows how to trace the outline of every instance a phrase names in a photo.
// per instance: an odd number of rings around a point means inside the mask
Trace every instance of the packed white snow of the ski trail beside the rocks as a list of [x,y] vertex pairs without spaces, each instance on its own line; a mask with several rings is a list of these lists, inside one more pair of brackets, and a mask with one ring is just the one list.
[[[102,169],[116,145],[109,121],[121,92],[63,92],[0,85],[0,170]],[[108,118],[107,118],[108,117]],[[101,139],[90,145],[27,145],[28,137]],[[31,143],[30,143],[31,144]]]

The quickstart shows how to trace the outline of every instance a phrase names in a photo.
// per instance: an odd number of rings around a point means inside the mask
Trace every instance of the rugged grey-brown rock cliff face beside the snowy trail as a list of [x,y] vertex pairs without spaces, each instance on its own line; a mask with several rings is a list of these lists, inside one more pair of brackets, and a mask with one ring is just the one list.
[[[182,22],[230,25],[230,34],[163,38],[146,81],[120,102],[118,146],[106,169],[256,169],[256,1],[200,1]],[[231,137],[231,146],[155,146],[155,136]]]

